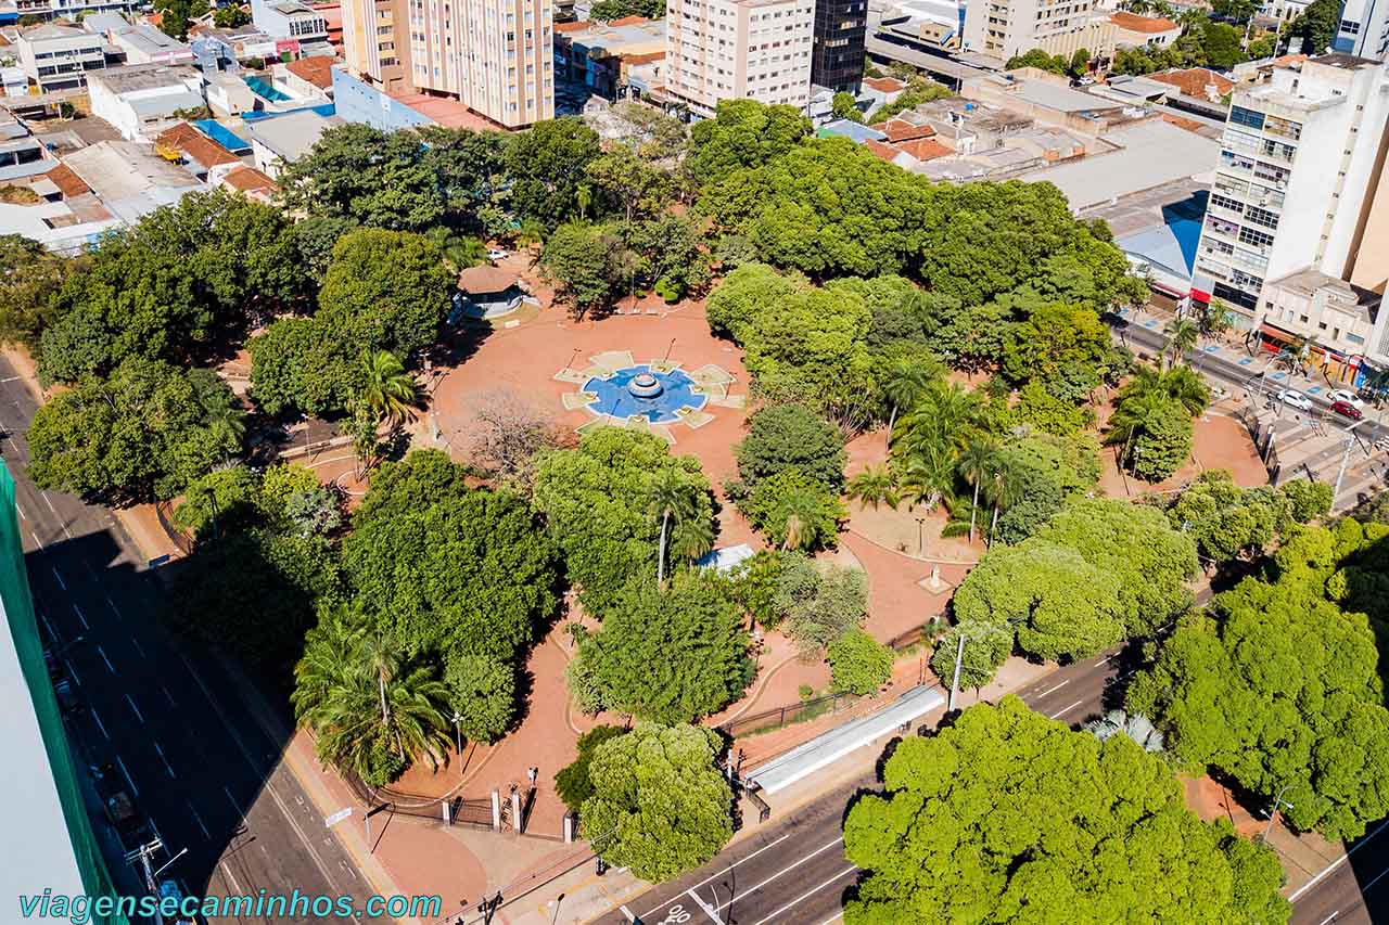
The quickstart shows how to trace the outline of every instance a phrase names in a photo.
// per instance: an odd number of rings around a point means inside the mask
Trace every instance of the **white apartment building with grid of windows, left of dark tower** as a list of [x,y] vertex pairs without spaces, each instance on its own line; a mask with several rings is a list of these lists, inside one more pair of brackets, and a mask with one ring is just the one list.
[[808,104],[814,0],[668,0],[665,24],[665,92],[693,112]]

